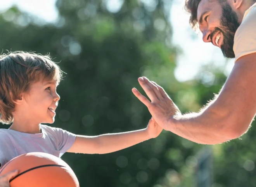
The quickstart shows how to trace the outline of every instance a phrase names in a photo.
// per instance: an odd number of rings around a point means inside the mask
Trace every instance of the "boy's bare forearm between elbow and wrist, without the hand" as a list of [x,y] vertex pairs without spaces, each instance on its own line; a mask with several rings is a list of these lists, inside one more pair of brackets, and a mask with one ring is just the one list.
[[103,134],[95,137],[99,145],[98,154],[111,153],[136,145],[148,140],[149,135],[145,129],[125,133]]

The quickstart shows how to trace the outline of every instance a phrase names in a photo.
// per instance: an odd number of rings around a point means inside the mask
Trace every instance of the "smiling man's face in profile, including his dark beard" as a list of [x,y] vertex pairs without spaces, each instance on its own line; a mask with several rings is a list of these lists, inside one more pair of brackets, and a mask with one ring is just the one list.
[[212,42],[221,48],[227,58],[235,58],[233,51],[234,36],[240,26],[237,14],[227,2],[201,0],[197,8],[199,29],[204,42]]

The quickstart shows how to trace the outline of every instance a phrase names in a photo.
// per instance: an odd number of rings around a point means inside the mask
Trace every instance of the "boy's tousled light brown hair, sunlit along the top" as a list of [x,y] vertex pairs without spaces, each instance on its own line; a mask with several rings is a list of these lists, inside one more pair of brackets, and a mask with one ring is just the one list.
[[0,55],[0,122],[13,121],[14,101],[31,83],[62,79],[62,71],[49,55],[15,51]]

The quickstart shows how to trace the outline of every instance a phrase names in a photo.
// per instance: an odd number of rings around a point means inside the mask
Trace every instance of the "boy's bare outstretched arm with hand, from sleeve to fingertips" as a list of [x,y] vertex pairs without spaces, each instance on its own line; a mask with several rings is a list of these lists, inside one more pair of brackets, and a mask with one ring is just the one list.
[[156,138],[163,129],[150,119],[147,128],[125,133],[102,134],[99,136],[77,135],[67,151],[70,153],[105,154],[128,148],[150,138]]

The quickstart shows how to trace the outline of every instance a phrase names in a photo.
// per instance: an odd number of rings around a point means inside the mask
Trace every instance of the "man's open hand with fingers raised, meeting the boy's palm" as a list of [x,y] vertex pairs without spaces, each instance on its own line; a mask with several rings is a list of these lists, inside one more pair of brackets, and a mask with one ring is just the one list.
[[170,99],[167,93],[157,83],[148,80],[146,77],[138,78],[138,82],[151,100],[142,95],[136,88],[132,91],[134,95],[149,109],[150,114],[157,124],[167,130],[167,124],[175,115],[181,115],[180,110]]

